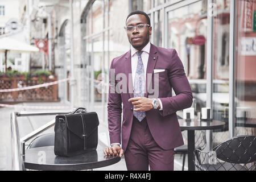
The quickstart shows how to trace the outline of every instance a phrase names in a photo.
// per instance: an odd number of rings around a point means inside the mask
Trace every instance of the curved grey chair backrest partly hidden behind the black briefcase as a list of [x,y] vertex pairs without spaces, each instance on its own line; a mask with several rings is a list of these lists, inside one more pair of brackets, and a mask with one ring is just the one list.
[[30,142],[30,148],[54,146],[54,133],[40,135]]

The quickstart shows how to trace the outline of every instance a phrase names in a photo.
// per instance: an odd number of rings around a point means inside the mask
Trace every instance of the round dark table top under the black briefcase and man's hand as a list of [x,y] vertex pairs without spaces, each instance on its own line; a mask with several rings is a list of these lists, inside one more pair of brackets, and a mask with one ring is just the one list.
[[83,170],[110,166],[121,160],[119,156],[108,156],[104,148],[72,157],[56,156],[54,146],[29,148],[25,151],[24,165],[27,169],[36,170]]

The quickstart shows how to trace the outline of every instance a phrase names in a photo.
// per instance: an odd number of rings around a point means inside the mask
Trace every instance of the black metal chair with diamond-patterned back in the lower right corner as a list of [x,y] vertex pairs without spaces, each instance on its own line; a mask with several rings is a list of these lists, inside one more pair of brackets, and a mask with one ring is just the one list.
[[233,137],[212,151],[196,149],[194,154],[199,171],[255,171],[256,136]]

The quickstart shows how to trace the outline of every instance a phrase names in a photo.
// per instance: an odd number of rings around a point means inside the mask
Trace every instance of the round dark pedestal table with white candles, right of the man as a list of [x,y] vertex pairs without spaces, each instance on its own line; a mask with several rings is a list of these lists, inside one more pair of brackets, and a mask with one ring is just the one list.
[[180,129],[188,131],[188,171],[195,171],[195,130],[224,129],[225,122],[217,120],[178,119]]

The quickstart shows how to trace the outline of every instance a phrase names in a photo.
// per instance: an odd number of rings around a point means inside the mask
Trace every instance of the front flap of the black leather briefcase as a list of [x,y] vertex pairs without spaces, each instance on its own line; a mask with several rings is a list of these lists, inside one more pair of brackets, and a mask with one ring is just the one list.
[[84,138],[84,134],[88,138],[99,125],[98,115],[95,112],[67,114],[65,117],[67,119],[68,130],[81,139]]

